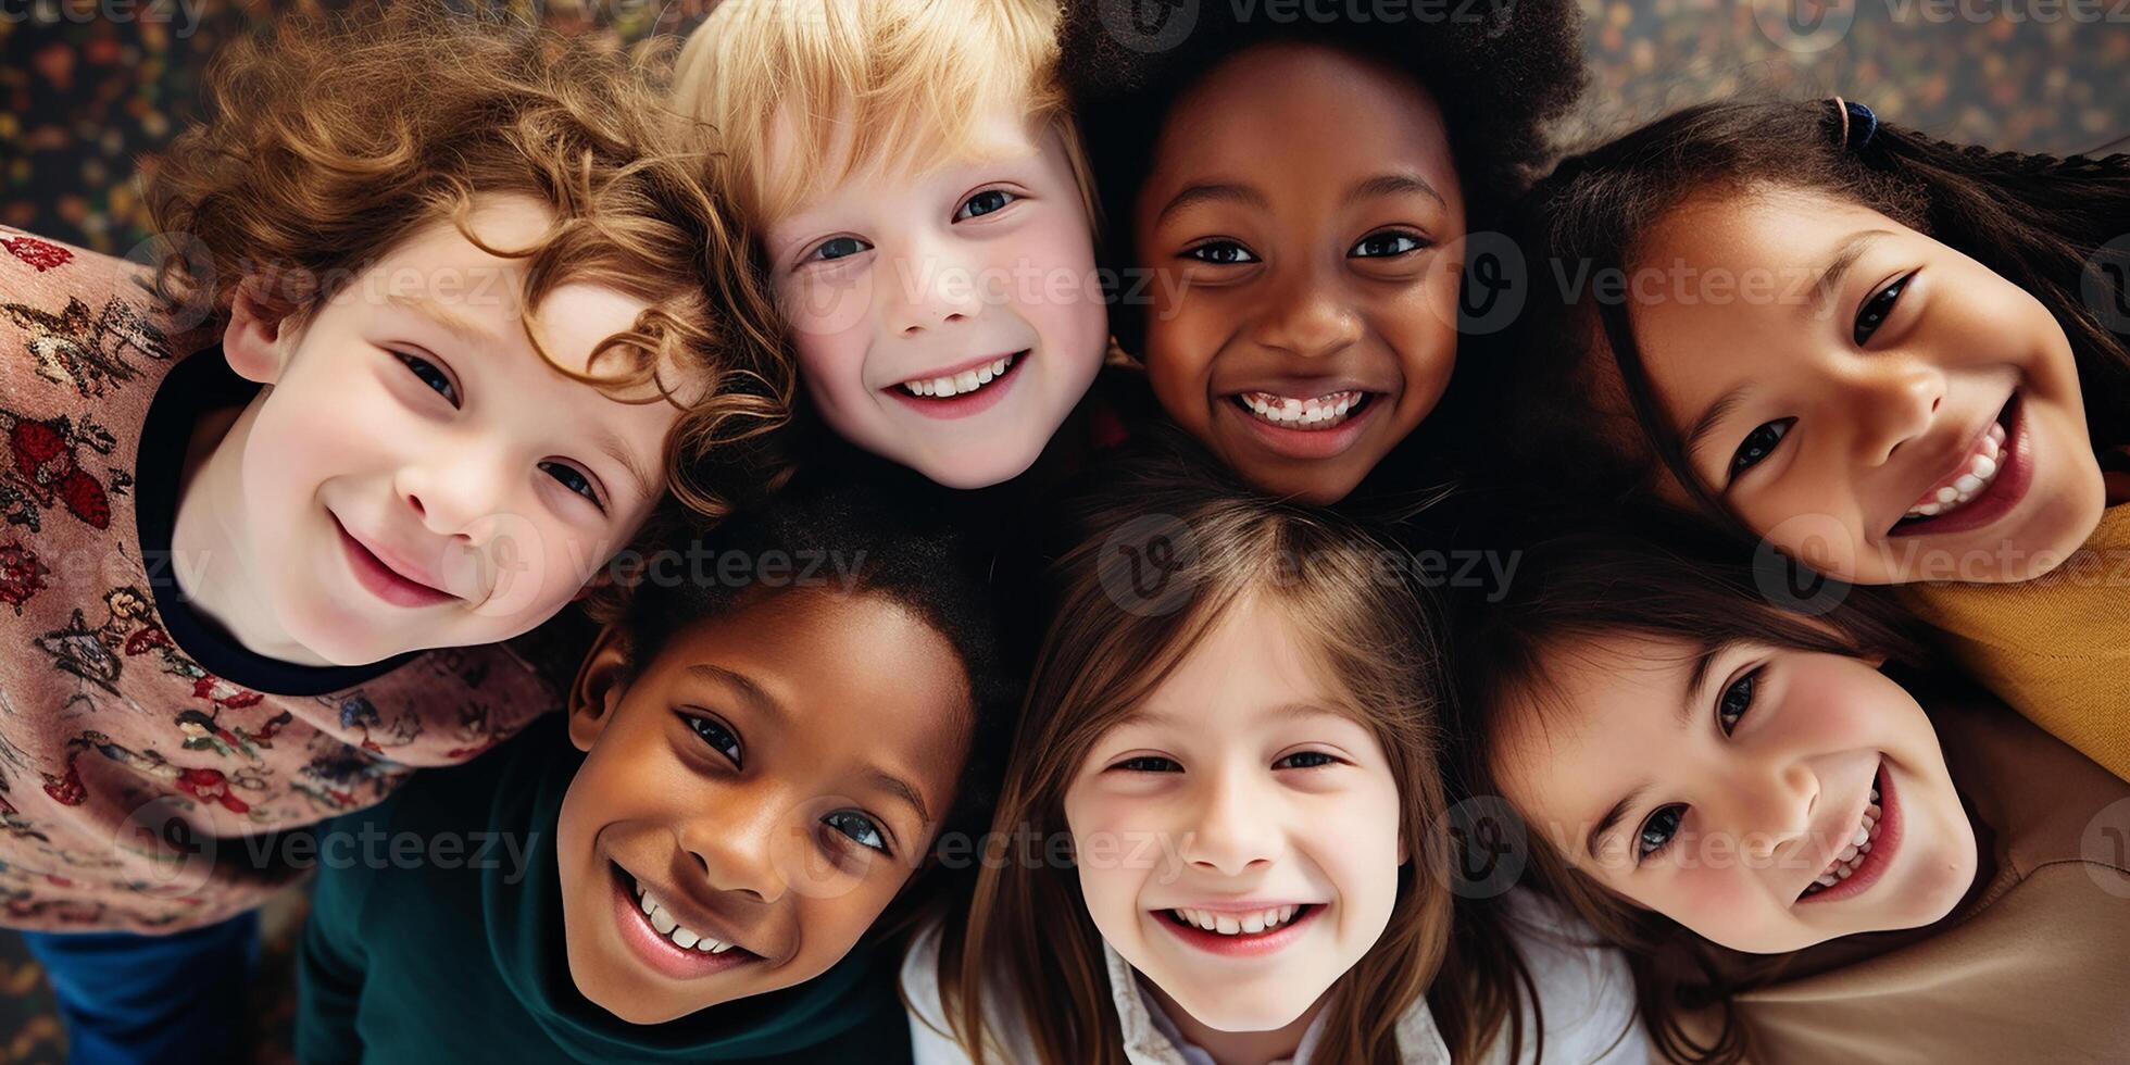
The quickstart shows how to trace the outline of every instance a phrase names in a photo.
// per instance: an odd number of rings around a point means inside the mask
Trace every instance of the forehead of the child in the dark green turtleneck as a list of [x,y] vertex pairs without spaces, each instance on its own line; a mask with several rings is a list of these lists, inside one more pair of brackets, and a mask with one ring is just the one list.
[[969,739],[969,675],[954,645],[899,603],[814,588],[748,596],[675,635],[648,679],[701,684],[699,665],[760,688],[782,707],[780,743],[820,773],[888,765],[944,809]]

